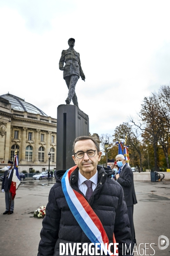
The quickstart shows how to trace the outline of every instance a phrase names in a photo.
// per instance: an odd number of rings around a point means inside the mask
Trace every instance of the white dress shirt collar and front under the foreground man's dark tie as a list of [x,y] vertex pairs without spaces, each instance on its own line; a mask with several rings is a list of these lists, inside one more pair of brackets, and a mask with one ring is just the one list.
[[[87,180],[79,171],[79,176],[78,176],[78,185],[79,185],[79,190],[85,195],[88,187],[85,185],[84,181]],[[97,186],[97,180],[98,180],[98,172],[96,171],[95,175],[93,175],[89,180],[92,181],[92,189],[94,189]]]

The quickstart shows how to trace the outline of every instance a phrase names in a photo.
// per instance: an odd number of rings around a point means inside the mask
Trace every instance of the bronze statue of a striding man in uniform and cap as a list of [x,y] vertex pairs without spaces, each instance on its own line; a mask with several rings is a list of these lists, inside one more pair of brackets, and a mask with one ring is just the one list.
[[70,104],[72,100],[73,104],[79,107],[75,87],[80,76],[82,80],[85,81],[85,75],[82,71],[79,53],[74,50],[74,44],[74,38],[68,39],[69,48],[62,51],[61,58],[59,60],[59,69],[64,71],[63,78],[65,79],[69,89],[68,97],[65,100],[66,104]]

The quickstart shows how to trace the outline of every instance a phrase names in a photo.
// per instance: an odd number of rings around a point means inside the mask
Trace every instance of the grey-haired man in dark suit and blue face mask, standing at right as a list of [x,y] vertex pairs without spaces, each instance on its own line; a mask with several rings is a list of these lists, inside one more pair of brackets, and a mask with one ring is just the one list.
[[119,173],[116,175],[117,182],[122,186],[124,198],[127,206],[127,214],[130,222],[130,230],[133,245],[136,244],[135,229],[133,224],[133,205],[137,204],[135,188],[133,183],[133,172],[125,162],[122,154],[116,156],[116,162],[119,166]]

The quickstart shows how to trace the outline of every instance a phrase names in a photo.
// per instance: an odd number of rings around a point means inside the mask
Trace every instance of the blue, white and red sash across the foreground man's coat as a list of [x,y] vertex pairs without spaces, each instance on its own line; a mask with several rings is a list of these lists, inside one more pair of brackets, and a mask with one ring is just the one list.
[[[104,246],[107,244],[108,247],[109,239],[99,217],[91,208],[85,197],[70,186],[70,175],[76,168],[77,166],[68,169],[62,177],[62,191],[65,195],[65,199],[79,226],[82,228],[88,239],[94,244],[99,243],[104,244]],[[116,243],[114,234],[113,243]]]

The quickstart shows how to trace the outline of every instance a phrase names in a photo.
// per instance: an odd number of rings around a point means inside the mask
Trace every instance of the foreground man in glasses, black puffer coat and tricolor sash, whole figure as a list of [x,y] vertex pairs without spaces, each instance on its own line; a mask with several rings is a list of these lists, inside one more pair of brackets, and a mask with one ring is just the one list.
[[[123,190],[108,177],[111,171],[105,172],[98,165],[101,154],[93,138],[75,139],[72,157],[76,166],[67,172],[56,172],[57,183],[51,188],[42,221],[38,256],[59,256],[60,245],[67,248],[68,243],[72,248],[75,246],[73,254],[77,255],[79,247],[82,255],[85,244],[88,247],[96,242],[111,244],[115,242],[114,237],[119,244],[119,256],[125,255],[125,244],[132,248]],[[68,255],[71,255],[69,246]],[[131,255],[130,251],[126,255]]]

